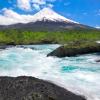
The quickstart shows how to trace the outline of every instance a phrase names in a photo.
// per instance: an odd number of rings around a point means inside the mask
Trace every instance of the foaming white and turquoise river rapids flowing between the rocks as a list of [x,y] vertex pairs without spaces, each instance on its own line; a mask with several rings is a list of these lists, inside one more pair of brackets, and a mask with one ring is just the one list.
[[[100,55],[46,57],[59,45],[13,47],[0,51],[1,76],[34,76],[52,81],[88,100],[100,100]],[[34,48],[34,49],[31,49]]]

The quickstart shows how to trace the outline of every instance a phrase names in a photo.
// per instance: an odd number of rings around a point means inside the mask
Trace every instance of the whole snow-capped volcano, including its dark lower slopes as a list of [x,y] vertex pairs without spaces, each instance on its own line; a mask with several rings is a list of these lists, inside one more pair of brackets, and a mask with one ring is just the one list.
[[16,19],[15,23],[0,26],[0,29],[5,28],[24,29],[32,31],[58,31],[66,29],[87,29],[91,27],[67,19],[53,11],[51,8],[44,8],[34,15],[21,15]]

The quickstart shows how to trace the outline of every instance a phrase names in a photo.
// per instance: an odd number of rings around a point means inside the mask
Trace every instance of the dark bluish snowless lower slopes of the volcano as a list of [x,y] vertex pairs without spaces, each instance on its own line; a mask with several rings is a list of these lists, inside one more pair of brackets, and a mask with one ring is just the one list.
[[37,21],[27,24],[13,24],[13,25],[1,25],[0,30],[4,29],[18,29],[18,30],[31,30],[31,31],[61,31],[66,29],[94,29],[93,27],[66,22],[54,22],[54,21]]

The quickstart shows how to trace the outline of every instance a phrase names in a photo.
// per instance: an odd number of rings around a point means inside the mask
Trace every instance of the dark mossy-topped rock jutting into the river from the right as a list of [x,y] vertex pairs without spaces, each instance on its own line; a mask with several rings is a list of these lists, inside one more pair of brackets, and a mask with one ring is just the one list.
[[97,52],[100,52],[100,44],[96,42],[74,42],[58,47],[56,50],[52,51],[47,56],[71,57]]

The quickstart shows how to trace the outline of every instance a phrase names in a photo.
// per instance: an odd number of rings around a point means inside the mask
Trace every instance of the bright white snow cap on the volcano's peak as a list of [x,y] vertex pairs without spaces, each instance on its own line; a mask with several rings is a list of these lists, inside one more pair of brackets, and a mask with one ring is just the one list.
[[35,22],[36,21],[47,21],[47,20],[54,21],[54,22],[58,21],[58,22],[77,23],[75,21],[72,21],[70,19],[67,19],[59,15],[58,13],[53,11],[51,8],[44,8],[33,16],[33,21]]

